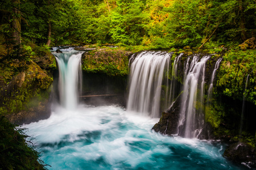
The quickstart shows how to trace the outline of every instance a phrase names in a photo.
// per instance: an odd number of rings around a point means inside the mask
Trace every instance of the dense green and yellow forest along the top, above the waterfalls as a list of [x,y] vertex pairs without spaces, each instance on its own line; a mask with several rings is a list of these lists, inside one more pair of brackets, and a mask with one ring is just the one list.
[[[146,45],[241,44],[256,33],[254,0],[1,1],[1,42]],[[10,42],[15,41],[15,42]]]

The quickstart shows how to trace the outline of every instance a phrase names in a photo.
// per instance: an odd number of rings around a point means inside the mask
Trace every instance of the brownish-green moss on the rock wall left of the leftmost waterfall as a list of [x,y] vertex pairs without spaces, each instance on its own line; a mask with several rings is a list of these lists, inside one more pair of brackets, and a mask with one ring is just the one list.
[[27,62],[26,69],[21,71],[16,71],[14,68],[19,67],[19,63],[9,62],[7,66],[0,66],[0,75],[3,77],[0,82],[2,95],[0,114],[26,111],[32,106],[35,107],[35,104],[31,104],[32,99],[38,99],[38,101],[43,98],[48,99],[49,95],[46,94],[49,94],[53,78],[34,61]]

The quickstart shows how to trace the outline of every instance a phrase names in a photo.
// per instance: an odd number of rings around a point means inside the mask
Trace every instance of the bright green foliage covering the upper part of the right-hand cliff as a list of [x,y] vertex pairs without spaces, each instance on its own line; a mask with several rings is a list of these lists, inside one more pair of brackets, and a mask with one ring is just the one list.
[[230,50],[225,54],[217,81],[217,86],[222,88],[223,94],[240,100],[245,97],[256,104],[255,56],[255,50]]

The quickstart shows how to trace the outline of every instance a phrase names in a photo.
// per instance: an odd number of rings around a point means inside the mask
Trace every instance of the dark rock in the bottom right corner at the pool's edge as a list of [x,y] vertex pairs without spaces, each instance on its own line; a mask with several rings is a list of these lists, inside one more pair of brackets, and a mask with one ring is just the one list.
[[237,142],[230,145],[224,152],[224,156],[233,162],[256,168],[256,151],[245,143]]

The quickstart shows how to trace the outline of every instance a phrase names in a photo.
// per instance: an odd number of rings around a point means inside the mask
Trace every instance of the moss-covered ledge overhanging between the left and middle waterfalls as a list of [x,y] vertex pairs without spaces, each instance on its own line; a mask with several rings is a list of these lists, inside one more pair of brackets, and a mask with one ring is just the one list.
[[129,74],[131,51],[119,48],[94,49],[82,55],[82,70],[86,73],[105,73],[109,76]]

